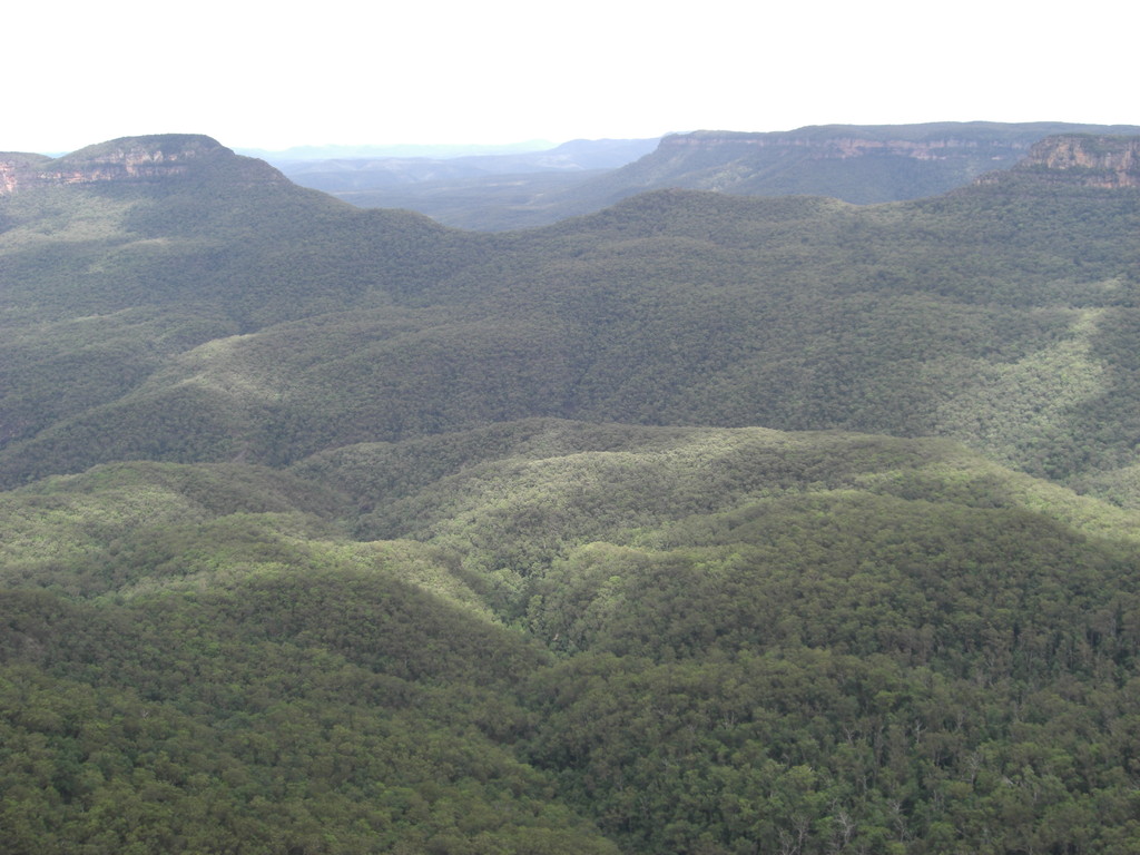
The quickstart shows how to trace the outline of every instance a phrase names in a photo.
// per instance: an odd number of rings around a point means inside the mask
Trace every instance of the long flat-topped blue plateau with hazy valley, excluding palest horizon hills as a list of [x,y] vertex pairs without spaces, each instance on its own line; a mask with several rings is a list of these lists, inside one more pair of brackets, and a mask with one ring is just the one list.
[[521,176],[477,181],[441,172],[422,186],[382,192],[310,186],[366,207],[408,207],[450,226],[504,230],[549,225],[668,188],[829,196],[855,204],[935,196],[1012,166],[1045,137],[1074,133],[1137,135],[1140,127],[938,122],[767,133],[695,131],[670,135],[653,152],[604,173],[546,177],[537,185]]

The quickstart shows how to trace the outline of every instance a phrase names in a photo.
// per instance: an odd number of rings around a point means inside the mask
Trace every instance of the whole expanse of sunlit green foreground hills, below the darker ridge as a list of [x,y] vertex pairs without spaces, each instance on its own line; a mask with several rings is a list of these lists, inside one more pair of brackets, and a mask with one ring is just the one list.
[[5,848],[1123,855],[1138,522],[551,420],[51,478],[0,495]]

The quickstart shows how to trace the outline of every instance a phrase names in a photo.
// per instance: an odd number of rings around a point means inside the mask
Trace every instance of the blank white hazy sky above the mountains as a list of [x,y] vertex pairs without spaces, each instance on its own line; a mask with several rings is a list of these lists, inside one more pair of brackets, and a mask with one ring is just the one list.
[[1005,0],[9,3],[0,150],[1140,124],[1138,5]]

